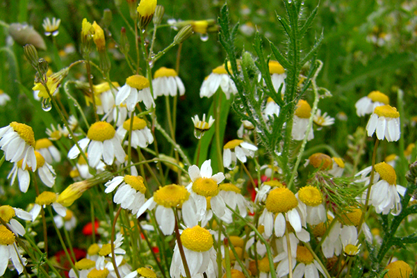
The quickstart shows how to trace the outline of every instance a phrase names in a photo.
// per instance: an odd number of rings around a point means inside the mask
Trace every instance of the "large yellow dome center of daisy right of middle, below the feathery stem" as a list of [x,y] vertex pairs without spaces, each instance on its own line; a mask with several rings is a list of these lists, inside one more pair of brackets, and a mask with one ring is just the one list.
[[266,198],[266,209],[271,213],[286,213],[297,205],[297,198],[288,188],[275,188]]

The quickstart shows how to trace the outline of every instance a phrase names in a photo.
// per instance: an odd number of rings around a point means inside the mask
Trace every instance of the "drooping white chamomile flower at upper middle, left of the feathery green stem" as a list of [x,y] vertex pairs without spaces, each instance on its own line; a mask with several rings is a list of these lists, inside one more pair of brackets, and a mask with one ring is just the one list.
[[[230,65],[229,70],[231,70]],[[222,88],[227,99],[230,98],[230,94],[235,95],[238,92],[234,81],[231,80],[229,74],[227,74],[224,65],[216,67],[213,72],[206,77],[200,88],[200,97],[211,97],[219,87]]]

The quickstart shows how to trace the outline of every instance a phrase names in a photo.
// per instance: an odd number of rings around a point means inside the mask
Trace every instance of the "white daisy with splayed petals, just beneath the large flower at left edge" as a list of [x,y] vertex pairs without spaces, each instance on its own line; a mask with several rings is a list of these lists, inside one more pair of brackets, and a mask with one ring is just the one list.
[[[44,183],[44,185],[51,188],[55,184],[55,178],[56,174],[54,171],[54,168],[47,163],[47,161],[44,160],[42,154],[35,151],[35,157],[36,157],[36,169],[38,170],[38,174],[40,177],[40,180]],[[22,169],[22,163],[23,161],[18,161],[13,165],[12,170],[8,174],[8,179],[10,180],[10,185],[13,185],[15,183],[15,179],[17,176],[17,179],[19,180],[19,189],[23,193],[26,193],[29,188],[29,184],[31,183],[31,175],[29,174],[28,170],[32,170],[31,167],[27,167],[23,170]]]

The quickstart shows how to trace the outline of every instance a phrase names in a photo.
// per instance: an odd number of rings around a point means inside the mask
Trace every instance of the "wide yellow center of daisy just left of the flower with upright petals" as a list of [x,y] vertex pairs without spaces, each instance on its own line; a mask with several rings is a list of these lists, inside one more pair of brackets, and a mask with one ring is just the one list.
[[183,202],[188,200],[190,193],[184,186],[177,184],[170,184],[159,188],[154,193],[154,201],[156,204],[165,206],[165,208],[172,208],[181,206]]

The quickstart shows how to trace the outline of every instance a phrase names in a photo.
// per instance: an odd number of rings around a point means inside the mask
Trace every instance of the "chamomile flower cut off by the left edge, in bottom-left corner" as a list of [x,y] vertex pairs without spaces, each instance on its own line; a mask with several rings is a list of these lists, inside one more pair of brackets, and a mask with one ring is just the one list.
[[[22,273],[26,259],[17,251],[15,235],[12,231],[0,225],[0,276],[4,275],[9,259],[12,260],[17,273]],[[23,265],[22,265],[23,263]]]

